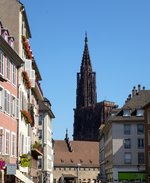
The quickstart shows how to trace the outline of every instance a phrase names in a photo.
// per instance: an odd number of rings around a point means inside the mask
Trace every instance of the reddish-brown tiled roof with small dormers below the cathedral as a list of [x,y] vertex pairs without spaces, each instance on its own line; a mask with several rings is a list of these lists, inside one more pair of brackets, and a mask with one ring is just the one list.
[[70,152],[65,140],[54,142],[54,166],[99,167],[99,143],[88,141],[70,141],[73,151]]

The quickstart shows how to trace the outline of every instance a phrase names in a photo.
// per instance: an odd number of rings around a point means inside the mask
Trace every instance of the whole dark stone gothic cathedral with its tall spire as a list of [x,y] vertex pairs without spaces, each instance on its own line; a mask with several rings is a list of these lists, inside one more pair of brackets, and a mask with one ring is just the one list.
[[85,44],[80,72],[77,73],[76,109],[74,109],[73,139],[78,141],[98,141],[99,127],[107,120],[114,102],[97,103],[96,73],[88,50],[88,39]]

